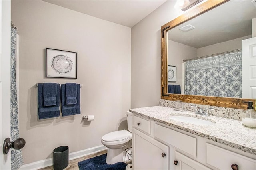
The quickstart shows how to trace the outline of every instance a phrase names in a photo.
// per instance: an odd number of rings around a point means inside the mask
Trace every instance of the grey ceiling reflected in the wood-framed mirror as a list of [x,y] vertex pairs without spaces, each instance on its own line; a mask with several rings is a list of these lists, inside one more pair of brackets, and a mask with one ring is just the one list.
[[[195,48],[234,40],[252,34],[252,18],[256,18],[256,7],[251,0],[233,0],[172,28],[168,39]],[[188,24],[195,28],[179,30]]]

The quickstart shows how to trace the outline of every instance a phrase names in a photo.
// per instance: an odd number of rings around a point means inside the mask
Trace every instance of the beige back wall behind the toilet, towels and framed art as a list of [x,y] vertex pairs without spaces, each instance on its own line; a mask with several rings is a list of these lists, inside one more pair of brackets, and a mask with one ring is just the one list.
[[[12,22],[20,35],[19,123],[24,163],[52,157],[54,148],[76,152],[101,145],[104,134],[127,128],[130,108],[131,29],[43,1],[12,1]],[[78,53],[78,78],[45,77],[45,48]],[[76,82],[81,114],[37,117],[36,83]],[[92,114],[90,124],[82,116]]]

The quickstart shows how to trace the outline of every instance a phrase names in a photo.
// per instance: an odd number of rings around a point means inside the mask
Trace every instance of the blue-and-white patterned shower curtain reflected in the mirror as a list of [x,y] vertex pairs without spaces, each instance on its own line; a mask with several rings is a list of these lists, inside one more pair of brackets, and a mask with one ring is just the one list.
[[185,94],[242,97],[242,53],[228,53],[185,63]]

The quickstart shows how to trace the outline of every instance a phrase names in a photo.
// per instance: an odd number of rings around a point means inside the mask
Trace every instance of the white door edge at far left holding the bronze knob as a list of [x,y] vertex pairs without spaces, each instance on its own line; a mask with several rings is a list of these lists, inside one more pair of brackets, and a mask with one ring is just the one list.
[[0,169],[11,169],[11,153],[3,154],[5,138],[10,138],[10,56],[11,2],[0,0]]

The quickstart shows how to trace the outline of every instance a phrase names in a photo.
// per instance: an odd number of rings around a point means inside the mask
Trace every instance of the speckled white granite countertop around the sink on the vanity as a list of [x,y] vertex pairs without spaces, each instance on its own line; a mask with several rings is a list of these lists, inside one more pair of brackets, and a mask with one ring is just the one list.
[[[152,121],[160,122],[170,127],[195,134],[196,136],[256,155],[256,129],[242,126],[242,121],[216,116],[200,116],[190,111],[175,111],[170,107],[163,106],[142,107],[130,109],[130,111],[135,115],[151,119]],[[198,117],[215,123],[213,125],[183,123],[171,119],[171,116],[174,115]]]

